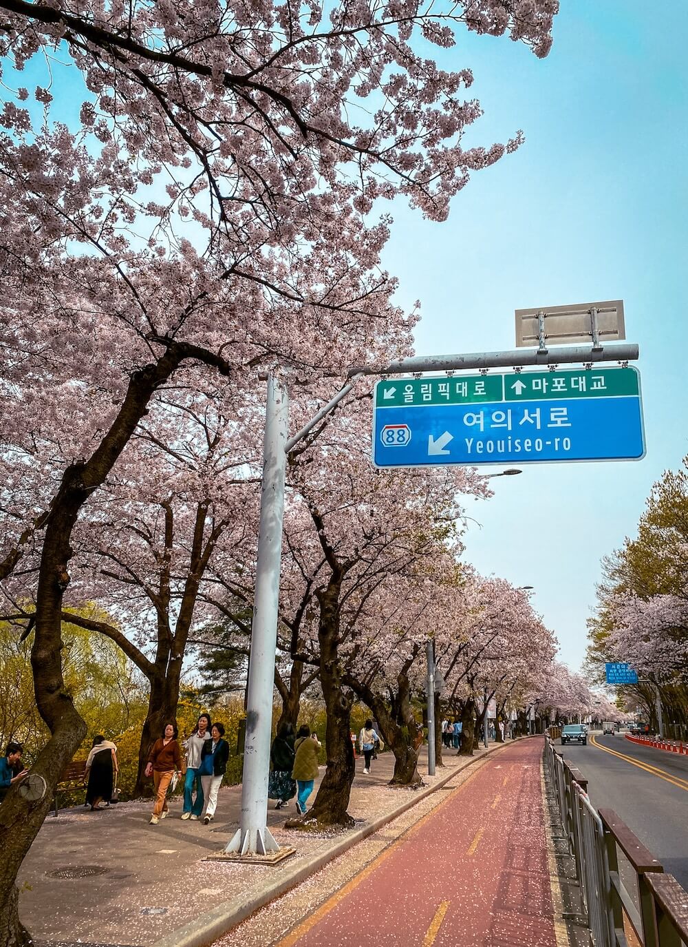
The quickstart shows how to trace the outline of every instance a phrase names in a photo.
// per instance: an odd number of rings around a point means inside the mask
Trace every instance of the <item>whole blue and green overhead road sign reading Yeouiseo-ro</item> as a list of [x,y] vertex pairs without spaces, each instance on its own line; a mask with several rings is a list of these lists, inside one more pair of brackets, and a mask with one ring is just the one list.
[[[473,388],[484,385],[479,391],[466,388],[470,380],[459,376],[379,382],[373,414],[375,466],[640,460],[644,456],[637,369],[487,377],[491,387],[485,387],[485,380],[473,383]],[[593,388],[591,379],[601,381]],[[555,387],[555,380],[568,389]],[[574,386],[574,382],[579,384]],[[551,388],[543,390],[543,384]],[[461,402],[463,394],[456,395],[454,388],[462,393],[467,390],[469,400]],[[556,395],[550,393],[553,390]],[[607,397],[606,390],[614,393]],[[485,396],[490,400],[479,400]],[[407,402],[399,403],[403,397]]]

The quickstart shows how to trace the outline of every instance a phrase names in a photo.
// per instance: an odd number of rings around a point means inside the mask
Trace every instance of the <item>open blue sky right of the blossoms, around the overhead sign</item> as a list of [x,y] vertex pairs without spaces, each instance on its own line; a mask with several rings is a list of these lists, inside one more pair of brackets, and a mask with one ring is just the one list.
[[[520,151],[476,173],[448,223],[395,207],[385,264],[399,301],[419,298],[418,354],[514,348],[514,310],[623,299],[640,345],[647,453],[639,462],[528,465],[471,502],[467,559],[533,585],[532,601],[577,668],[600,559],[635,531],[652,484],[688,453],[688,3],[562,0],[549,57],[460,34],[485,116],[473,144]],[[449,63],[449,58],[443,64]],[[485,468],[494,473],[499,468]],[[478,525],[480,524],[480,525]]]

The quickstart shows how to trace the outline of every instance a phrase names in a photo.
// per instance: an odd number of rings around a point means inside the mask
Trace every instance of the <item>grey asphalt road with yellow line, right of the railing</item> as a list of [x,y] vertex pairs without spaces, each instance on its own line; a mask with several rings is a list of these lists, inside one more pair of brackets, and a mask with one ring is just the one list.
[[587,746],[567,743],[563,755],[588,778],[592,805],[613,809],[688,890],[688,756],[599,732]]

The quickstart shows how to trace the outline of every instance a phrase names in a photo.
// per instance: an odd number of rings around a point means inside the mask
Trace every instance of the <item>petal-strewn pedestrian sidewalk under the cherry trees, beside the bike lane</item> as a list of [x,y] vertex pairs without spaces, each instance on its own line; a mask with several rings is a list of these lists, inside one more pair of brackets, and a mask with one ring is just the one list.
[[[370,776],[362,775],[359,759],[348,810],[355,828],[315,835],[286,831],[293,804],[288,810],[270,808],[268,825],[277,842],[296,849],[270,867],[205,861],[238,827],[240,787],[221,790],[215,822],[208,827],[181,821],[179,800],[157,826],[148,823],[150,803],[122,803],[102,813],[62,810],[58,818],[47,816],[22,867],[21,918],[39,947],[209,943],[362,839],[374,838],[378,848],[389,845],[391,836],[379,828],[394,819],[412,825],[446,795],[435,790],[465,780],[481,759],[497,760],[521,746],[531,746],[537,757],[541,753],[539,740],[492,744],[473,758],[450,751],[446,768],[424,776],[428,785],[420,791],[387,785],[391,753],[380,755]],[[427,759],[421,758],[420,770],[427,773]]]

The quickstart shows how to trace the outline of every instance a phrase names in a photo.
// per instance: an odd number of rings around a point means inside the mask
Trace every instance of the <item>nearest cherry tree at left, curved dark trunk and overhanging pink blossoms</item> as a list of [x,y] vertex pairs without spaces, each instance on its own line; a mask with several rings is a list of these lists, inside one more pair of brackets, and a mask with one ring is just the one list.
[[[408,353],[413,316],[379,270],[390,221],[366,215],[400,194],[442,220],[471,171],[520,143],[463,147],[472,76],[415,35],[508,33],[543,56],[557,5],[0,8],[0,578],[9,599],[35,589],[52,736],[33,768],[49,787],[83,735],[60,657],[75,528],[141,422],[208,372],[251,397],[256,366],[317,382]],[[79,120],[56,109],[67,82]],[[2,804],[2,947],[28,942],[14,879],[48,802]]]

